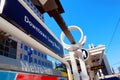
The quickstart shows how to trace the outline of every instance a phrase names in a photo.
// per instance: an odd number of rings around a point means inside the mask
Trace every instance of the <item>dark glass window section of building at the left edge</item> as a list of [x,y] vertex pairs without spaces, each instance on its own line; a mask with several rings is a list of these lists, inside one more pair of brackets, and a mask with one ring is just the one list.
[[0,55],[16,59],[17,42],[12,39],[2,40],[0,38]]

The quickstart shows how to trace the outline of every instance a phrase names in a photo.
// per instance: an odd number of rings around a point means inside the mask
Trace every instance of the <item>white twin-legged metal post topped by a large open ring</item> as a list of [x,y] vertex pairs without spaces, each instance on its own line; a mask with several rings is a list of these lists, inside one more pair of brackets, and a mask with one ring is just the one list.
[[[66,50],[68,50],[70,54],[70,61],[72,65],[74,80],[80,80],[80,76],[82,80],[89,80],[89,76],[87,74],[86,65],[85,65],[85,60],[88,59],[88,53],[86,53],[86,51],[82,49],[82,46],[86,41],[86,36],[83,36],[82,30],[77,26],[70,26],[68,29],[78,30],[81,33],[81,39],[79,40],[79,42],[77,44],[72,44],[72,45],[68,45],[64,43],[63,40],[64,40],[65,34],[63,32],[61,33],[61,42],[63,44],[63,47]],[[81,73],[78,72],[76,59],[79,60]]]

